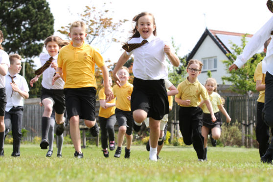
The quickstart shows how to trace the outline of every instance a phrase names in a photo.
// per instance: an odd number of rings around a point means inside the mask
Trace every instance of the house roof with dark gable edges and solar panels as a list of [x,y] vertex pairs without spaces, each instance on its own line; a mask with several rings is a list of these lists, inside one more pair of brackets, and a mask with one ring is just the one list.
[[[226,55],[227,53],[231,53],[232,44],[241,45],[242,36],[246,35],[244,33],[236,33],[236,32],[227,32],[227,31],[219,31],[219,30],[211,30],[205,29],[203,35],[194,46],[189,56],[187,57],[187,61],[193,58],[196,51],[204,42],[205,38],[209,36],[213,42],[222,50],[222,52]],[[253,35],[247,34],[246,41],[248,42]],[[231,44],[232,43],[232,44]],[[262,50],[261,50],[262,51]]]

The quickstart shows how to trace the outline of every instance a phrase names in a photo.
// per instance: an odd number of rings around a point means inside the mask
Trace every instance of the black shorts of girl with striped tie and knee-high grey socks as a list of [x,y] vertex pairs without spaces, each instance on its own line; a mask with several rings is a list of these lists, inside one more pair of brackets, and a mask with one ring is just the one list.
[[57,114],[64,114],[66,111],[65,94],[63,89],[45,89],[41,88],[41,101],[45,98],[52,100],[54,110]]

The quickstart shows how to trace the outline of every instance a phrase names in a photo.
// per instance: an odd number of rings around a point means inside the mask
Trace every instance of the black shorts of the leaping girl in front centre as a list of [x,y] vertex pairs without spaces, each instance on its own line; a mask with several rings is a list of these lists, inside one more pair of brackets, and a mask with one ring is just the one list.
[[169,113],[169,101],[164,79],[141,80],[134,78],[134,89],[131,95],[131,110],[144,110],[155,120],[161,120]]

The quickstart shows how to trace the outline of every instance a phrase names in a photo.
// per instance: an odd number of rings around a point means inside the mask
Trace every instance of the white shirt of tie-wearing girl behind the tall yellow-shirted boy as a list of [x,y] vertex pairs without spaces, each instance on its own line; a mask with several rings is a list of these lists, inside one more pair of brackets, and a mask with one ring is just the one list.
[[[47,60],[49,60],[51,56],[49,56],[49,54],[46,53],[41,53],[40,54],[40,62],[41,62],[41,66],[43,66],[45,64],[45,62]],[[57,64],[57,58],[58,58],[58,54],[53,56],[53,62],[55,62]],[[65,82],[62,78],[58,78],[55,82],[54,85],[52,85],[52,78],[54,73],[56,72],[56,70],[54,68],[51,68],[51,66],[49,66],[48,68],[45,69],[45,71],[43,72],[43,80],[42,80],[42,86],[45,89],[64,89],[64,85]]]

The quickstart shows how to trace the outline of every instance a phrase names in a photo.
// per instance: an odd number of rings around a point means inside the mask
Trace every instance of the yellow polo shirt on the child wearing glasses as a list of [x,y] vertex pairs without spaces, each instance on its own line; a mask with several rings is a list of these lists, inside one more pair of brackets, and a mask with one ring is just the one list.
[[190,105],[185,106],[178,104],[182,107],[197,107],[201,102],[201,96],[204,100],[208,99],[208,94],[205,87],[198,81],[198,79],[194,83],[190,83],[188,78],[182,81],[177,86],[178,94],[175,97],[180,98],[182,100],[190,100]]

